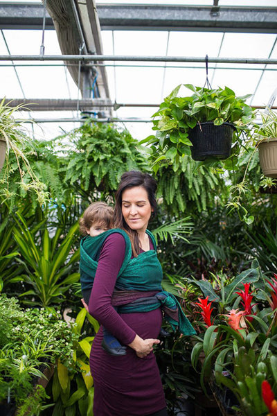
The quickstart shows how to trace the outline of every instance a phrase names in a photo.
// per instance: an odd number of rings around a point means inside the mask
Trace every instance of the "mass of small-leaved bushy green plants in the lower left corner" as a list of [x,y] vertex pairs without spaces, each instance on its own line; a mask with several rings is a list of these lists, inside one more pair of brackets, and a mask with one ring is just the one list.
[[[15,298],[0,296],[0,403],[23,404],[37,378],[60,358],[73,365],[73,343],[78,336],[59,313],[20,308]],[[3,325],[2,325],[3,324]]]

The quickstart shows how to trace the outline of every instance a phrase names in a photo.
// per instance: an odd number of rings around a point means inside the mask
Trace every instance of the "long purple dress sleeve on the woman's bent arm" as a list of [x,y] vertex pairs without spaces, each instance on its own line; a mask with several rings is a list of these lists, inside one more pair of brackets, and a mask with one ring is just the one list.
[[125,257],[125,240],[119,233],[107,237],[102,246],[91,296],[89,313],[93,315],[120,343],[132,343],[136,333],[111,306],[116,278]]

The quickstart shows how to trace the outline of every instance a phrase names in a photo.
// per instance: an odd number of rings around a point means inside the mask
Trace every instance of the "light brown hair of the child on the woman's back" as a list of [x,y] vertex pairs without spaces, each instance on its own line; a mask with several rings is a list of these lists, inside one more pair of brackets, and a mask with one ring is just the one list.
[[113,227],[114,209],[109,207],[106,202],[93,202],[87,209],[85,209],[82,218],[79,220],[80,233],[87,235],[87,229],[91,225],[97,224],[104,228]]

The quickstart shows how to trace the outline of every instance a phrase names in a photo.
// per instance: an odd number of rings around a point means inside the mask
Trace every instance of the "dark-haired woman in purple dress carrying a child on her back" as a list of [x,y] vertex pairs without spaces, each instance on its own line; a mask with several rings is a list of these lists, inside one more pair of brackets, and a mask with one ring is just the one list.
[[[114,218],[115,226],[125,232],[115,229],[100,250],[89,300],[89,313],[101,324],[90,357],[95,416],[168,415],[153,354],[154,345],[160,342],[161,308],[120,313],[120,306],[117,311],[112,306],[136,303],[161,290],[161,265],[154,238],[147,230],[157,209],[156,189],[148,174],[123,174]],[[125,356],[111,356],[101,347],[102,327],[127,346]]]

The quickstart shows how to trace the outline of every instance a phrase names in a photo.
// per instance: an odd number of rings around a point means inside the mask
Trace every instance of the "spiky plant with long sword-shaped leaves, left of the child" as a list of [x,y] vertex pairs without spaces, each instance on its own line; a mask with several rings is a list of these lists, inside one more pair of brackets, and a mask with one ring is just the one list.
[[[33,286],[33,289],[24,293],[32,295],[34,300],[24,300],[28,304],[50,306],[59,304],[64,299],[71,284],[79,280],[80,275],[75,271],[75,263],[79,260],[79,250],[71,253],[73,243],[78,238],[78,222],[72,225],[65,236],[64,228],[57,226],[51,238],[51,231],[45,225],[46,218],[31,230],[26,220],[17,212],[17,228],[15,228],[15,241],[23,260],[26,273],[22,273],[13,281],[23,280]],[[39,229],[40,232],[37,232]]]

